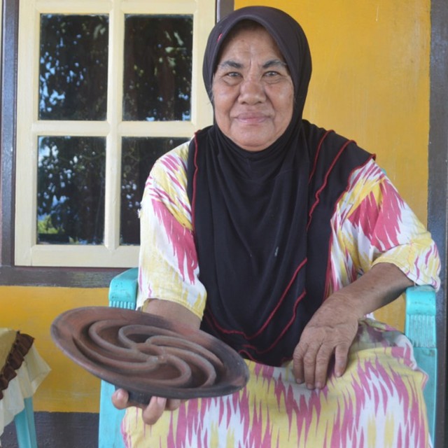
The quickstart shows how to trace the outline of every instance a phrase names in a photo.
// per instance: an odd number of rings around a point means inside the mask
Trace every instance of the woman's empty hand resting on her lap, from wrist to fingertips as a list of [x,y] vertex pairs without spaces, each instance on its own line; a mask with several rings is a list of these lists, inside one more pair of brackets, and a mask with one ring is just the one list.
[[342,293],[335,293],[323,302],[295,347],[293,372],[297,383],[304,382],[309,389],[323,388],[332,356],[336,376],[344,373],[359,318],[352,302]]

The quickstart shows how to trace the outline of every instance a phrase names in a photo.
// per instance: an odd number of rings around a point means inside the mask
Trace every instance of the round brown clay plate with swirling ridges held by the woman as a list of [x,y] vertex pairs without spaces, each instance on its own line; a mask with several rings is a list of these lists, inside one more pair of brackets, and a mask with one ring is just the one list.
[[125,388],[132,401],[148,402],[152,395],[228,395],[248,380],[246,363],[230,346],[154,314],[111,307],[71,309],[55,319],[51,335],[66,356]]

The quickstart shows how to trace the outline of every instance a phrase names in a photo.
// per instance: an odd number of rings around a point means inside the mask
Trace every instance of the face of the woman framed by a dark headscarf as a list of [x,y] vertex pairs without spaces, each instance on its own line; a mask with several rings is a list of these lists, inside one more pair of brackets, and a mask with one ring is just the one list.
[[216,124],[247,151],[274,143],[293,116],[293,81],[264,28],[241,30],[225,45],[212,92]]

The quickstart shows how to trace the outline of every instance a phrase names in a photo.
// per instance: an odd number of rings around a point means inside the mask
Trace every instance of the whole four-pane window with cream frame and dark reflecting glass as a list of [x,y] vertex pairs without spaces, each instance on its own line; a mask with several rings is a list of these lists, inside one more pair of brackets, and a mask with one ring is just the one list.
[[21,0],[14,265],[137,265],[153,162],[211,123],[207,0]]

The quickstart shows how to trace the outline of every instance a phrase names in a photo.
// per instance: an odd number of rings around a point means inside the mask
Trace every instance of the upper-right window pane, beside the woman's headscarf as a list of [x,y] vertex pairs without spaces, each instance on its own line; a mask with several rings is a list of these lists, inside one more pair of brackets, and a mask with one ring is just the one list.
[[123,120],[190,120],[192,16],[125,20]]

